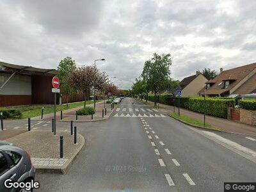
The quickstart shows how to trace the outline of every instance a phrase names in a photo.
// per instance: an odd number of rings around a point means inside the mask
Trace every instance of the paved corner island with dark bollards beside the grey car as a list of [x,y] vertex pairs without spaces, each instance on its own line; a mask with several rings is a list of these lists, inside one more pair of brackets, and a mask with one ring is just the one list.
[[[63,158],[60,158],[60,136],[63,136]],[[36,172],[67,173],[68,168],[84,147],[84,137],[68,131],[57,131],[56,136],[51,131],[35,130],[13,136],[5,141],[23,148],[30,154]]]

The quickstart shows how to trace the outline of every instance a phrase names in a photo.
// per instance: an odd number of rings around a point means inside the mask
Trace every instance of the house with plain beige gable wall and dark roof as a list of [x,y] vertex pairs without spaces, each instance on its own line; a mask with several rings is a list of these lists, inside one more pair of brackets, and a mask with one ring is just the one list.
[[204,88],[207,81],[208,79],[199,71],[196,71],[196,74],[193,76],[182,79],[180,81],[182,97],[198,97],[198,92]]

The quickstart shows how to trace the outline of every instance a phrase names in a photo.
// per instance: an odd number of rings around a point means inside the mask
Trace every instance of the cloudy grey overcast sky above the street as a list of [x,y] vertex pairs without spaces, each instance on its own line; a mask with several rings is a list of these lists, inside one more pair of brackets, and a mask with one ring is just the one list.
[[256,1],[1,0],[0,60],[56,68],[66,56],[97,66],[130,88],[145,60],[173,58],[181,80],[256,61]]

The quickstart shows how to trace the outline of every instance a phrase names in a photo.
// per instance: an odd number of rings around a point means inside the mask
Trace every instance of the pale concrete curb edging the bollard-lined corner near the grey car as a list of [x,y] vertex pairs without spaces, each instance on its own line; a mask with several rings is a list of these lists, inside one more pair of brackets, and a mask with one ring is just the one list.
[[[78,156],[79,152],[81,152],[81,150],[84,147],[84,137],[81,134],[77,134],[77,136],[81,136],[82,138],[82,143],[80,145],[79,148],[77,148],[76,152],[72,155],[72,157],[68,158],[68,161],[63,164],[63,166],[61,167],[51,167],[51,168],[36,168],[36,172],[40,172],[40,173],[61,173],[61,174],[66,174],[68,171],[68,168],[70,168],[72,162],[76,159],[76,157]],[[77,145],[77,144],[75,144]]]

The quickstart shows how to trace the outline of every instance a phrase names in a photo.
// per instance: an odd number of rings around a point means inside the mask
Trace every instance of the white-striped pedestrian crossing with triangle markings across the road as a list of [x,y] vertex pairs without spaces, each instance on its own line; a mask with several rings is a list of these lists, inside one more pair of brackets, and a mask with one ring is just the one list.
[[148,108],[116,108],[115,117],[166,117],[157,109]]

